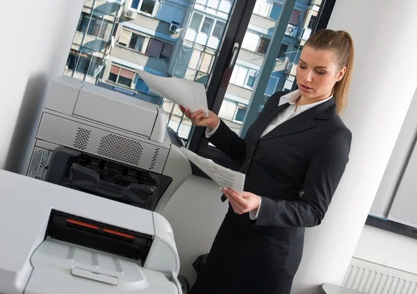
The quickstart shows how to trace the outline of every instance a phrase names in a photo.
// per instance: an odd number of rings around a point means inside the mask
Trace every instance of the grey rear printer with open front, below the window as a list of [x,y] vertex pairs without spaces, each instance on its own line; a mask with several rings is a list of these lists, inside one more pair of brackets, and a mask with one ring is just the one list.
[[161,106],[60,76],[24,174],[160,212],[191,174],[181,145]]

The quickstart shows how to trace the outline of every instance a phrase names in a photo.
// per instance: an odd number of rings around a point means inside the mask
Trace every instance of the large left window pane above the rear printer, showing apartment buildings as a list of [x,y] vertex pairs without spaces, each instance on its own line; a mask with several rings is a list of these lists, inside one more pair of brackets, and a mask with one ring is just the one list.
[[[84,1],[88,13],[81,13],[72,44],[79,51],[70,52],[64,73],[163,105],[168,125],[186,142],[190,121],[178,106],[149,92],[137,70],[206,85],[234,1],[111,1],[111,9],[101,8],[102,2]],[[139,13],[129,14],[131,9]],[[242,86],[247,87],[247,79],[243,77]]]

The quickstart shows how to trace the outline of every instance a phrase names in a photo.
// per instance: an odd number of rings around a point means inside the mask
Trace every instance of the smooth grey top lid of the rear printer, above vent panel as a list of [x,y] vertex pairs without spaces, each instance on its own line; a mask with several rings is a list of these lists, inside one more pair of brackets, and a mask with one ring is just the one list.
[[44,108],[156,142],[165,140],[166,116],[161,106],[70,76],[59,76],[51,81]]

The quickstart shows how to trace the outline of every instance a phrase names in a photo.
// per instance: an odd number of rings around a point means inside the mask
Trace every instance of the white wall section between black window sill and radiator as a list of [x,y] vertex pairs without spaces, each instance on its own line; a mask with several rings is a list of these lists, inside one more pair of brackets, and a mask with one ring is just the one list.
[[417,274],[417,240],[365,226],[354,256]]

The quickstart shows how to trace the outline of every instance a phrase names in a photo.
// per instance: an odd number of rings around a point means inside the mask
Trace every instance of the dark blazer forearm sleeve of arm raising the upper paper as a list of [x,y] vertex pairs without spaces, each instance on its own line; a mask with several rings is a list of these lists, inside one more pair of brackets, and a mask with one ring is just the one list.
[[240,165],[242,165],[245,161],[245,140],[240,138],[222,120],[220,120],[220,125],[217,131],[215,131],[215,133],[208,138],[208,141],[220,149],[221,152],[229,156],[232,161]]

